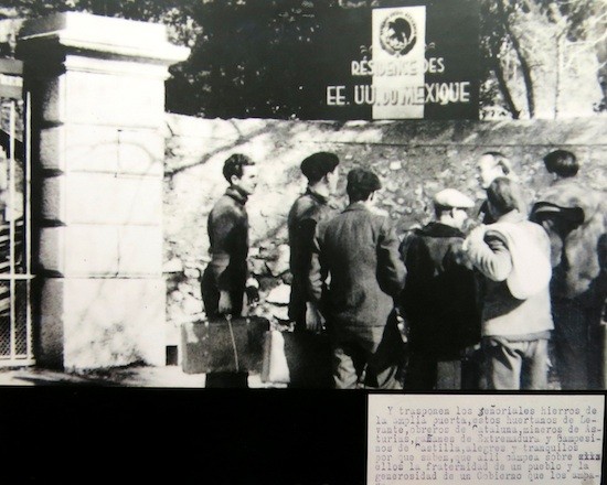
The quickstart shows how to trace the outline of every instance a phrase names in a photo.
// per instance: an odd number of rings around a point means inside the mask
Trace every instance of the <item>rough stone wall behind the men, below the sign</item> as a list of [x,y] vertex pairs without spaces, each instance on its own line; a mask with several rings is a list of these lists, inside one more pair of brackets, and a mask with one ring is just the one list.
[[[227,184],[224,160],[234,152],[260,166],[259,184],[247,204],[251,222],[251,268],[260,283],[258,312],[286,320],[288,246],[286,217],[306,181],[299,163],[328,150],[341,160],[338,204],[344,206],[345,173],[366,166],[383,190],[377,208],[394,220],[400,234],[432,218],[432,196],[455,187],[478,205],[483,191],[476,161],[486,151],[501,151],[513,162],[530,200],[547,186],[542,157],[563,148],[583,162],[578,177],[607,188],[606,118],[563,121],[280,121],[220,120],[167,115],[164,176],[164,274],[168,322],[204,317],[199,277],[209,261],[206,217]],[[171,335],[171,333],[169,333]],[[177,340],[177,331],[173,333]],[[171,337],[169,336],[169,340]],[[170,344],[170,343],[169,343]]]

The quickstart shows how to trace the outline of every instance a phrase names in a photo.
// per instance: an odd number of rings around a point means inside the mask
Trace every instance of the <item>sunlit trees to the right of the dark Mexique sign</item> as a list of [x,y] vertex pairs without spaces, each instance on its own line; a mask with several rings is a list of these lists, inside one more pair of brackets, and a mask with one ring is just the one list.
[[481,0],[482,108],[512,118],[605,109],[606,32],[601,0]]

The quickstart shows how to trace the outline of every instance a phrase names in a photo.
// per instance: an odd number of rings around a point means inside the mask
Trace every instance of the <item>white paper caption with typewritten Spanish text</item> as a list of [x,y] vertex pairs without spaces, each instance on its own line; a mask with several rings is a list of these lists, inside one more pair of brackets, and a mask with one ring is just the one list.
[[368,485],[598,485],[604,412],[595,395],[369,395]]

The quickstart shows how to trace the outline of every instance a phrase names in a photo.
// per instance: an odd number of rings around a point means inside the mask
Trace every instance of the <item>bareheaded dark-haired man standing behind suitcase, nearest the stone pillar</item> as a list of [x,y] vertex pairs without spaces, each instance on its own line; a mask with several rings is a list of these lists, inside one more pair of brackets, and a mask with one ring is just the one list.
[[[245,204],[257,185],[257,168],[246,155],[235,153],[224,163],[230,183],[209,215],[211,261],[201,282],[202,301],[209,320],[239,316],[247,280],[248,216]],[[206,387],[246,387],[247,373],[212,373]]]

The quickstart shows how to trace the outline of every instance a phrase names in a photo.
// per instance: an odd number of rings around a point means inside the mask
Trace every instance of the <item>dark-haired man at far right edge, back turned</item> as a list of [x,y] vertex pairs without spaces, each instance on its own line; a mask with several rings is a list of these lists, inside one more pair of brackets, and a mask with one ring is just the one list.
[[551,240],[556,369],[563,389],[597,389],[606,385],[600,312],[607,297],[607,197],[576,182],[579,163],[572,152],[555,150],[544,163],[555,180],[531,219]]

